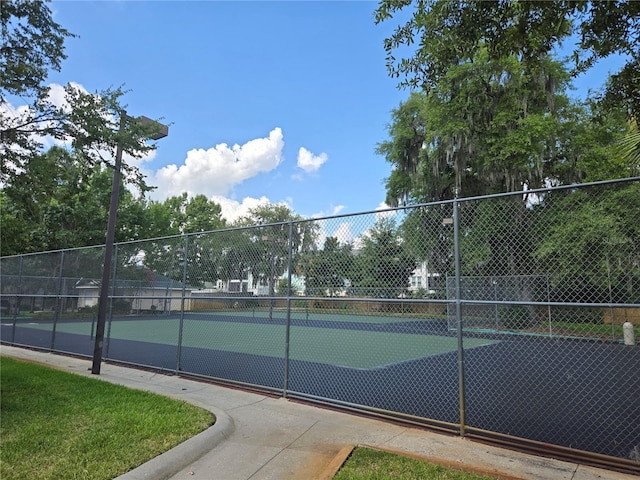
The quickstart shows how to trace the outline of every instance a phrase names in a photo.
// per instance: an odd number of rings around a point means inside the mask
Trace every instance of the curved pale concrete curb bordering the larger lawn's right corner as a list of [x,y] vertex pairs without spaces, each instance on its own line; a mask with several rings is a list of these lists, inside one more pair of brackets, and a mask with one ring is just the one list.
[[216,423],[204,432],[164,452],[115,480],[165,480],[193,464],[235,430],[233,419],[222,410],[207,408]]

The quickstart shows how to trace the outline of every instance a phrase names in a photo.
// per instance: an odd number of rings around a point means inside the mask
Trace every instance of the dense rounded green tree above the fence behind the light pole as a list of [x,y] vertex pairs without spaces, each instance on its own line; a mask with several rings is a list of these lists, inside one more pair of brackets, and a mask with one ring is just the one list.
[[[2,255],[104,244],[111,172],[90,166],[81,152],[53,147],[34,154],[2,192],[3,212],[20,220],[3,222]],[[121,187],[116,241],[151,236],[146,212],[144,199]]]

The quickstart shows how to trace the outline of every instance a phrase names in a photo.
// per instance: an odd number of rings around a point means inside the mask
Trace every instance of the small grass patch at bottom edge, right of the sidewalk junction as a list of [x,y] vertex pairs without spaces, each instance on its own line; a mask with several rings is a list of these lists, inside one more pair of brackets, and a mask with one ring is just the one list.
[[333,480],[495,480],[415,458],[358,447]]

